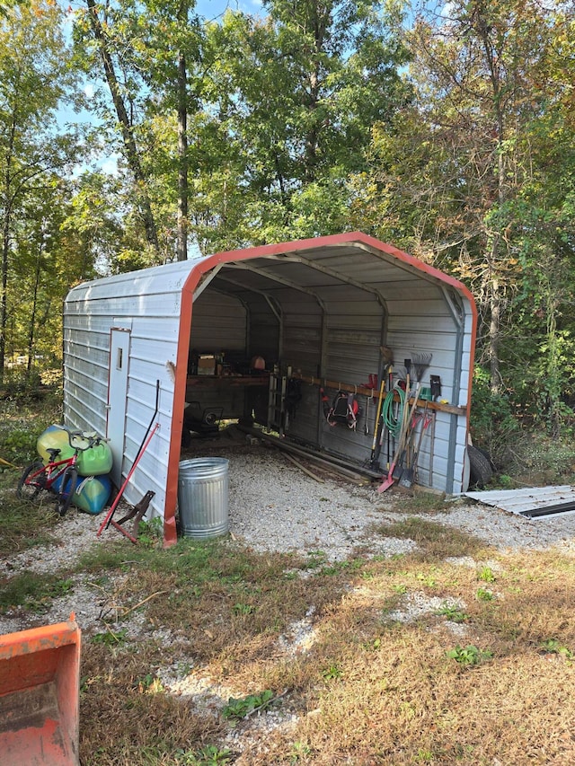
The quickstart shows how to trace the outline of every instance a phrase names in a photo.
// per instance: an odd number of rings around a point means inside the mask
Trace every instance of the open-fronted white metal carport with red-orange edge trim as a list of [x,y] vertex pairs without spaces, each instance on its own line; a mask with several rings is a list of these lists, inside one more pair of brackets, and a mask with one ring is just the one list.
[[[444,401],[436,407],[432,485],[458,493],[467,489],[475,330],[473,296],[462,283],[364,233],[219,252],[105,277],[66,297],[65,421],[112,434],[119,480],[158,402],[158,435],[126,497],[135,503],[155,490],[153,512],[164,516],[169,544],[176,539],[190,349],[258,354],[268,370],[302,378],[302,399],[286,437],[355,464],[365,462],[371,436],[327,426],[320,388],[327,381],[366,382],[379,372],[382,345],[393,349],[399,365],[426,351]],[[250,394],[242,392],[240,403],[237,392],[235,399],[221,395],[237,414]],[[112,418],[122,397],[120,417]],[[422,449],[422,471],[429,459],[429,447]]]

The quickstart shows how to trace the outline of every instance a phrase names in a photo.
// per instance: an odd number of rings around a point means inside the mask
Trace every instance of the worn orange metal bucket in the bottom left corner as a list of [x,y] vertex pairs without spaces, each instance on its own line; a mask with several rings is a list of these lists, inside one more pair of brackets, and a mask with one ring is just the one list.
[[0,636],[0,762],[77,766],[79,685],[74,614]]

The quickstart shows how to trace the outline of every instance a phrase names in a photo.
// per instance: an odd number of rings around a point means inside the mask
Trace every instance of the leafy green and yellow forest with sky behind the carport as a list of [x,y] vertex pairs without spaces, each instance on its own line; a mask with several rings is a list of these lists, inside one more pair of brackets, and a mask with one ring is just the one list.
[[571,441],[573,4],[253,9],[0,0],[4,393],[80,281],[361,230],[473,291],[478,443]]

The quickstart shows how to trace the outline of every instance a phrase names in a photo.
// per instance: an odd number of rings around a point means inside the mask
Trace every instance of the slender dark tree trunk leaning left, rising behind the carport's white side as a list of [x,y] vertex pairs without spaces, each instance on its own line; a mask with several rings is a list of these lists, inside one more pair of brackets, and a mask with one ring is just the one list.
[[[132,172],[134,179],[137,182],[138,187],[146,189],[147,178],[145,172],[142,170],[142,164],[140,163],[139,156],[137,154],[136,141],[132,131],[130,119],[128,118],[128,110],[119,88],[118,77],[114,69],[114,64],[111,58],[110,50],[106,42],[106,36],[102,29],[102,23],[98,16],[98,9],[94,0],[86,0],[86,4],[89,10],[90,23],[92,26],[93,36],[100,45],[100,54],[102,56],[102,64],[104,67],[104,73],[106,75],[106,81],[110,87],[111,98],[114,102],[114,108],[116,115],[118,116],[119,125],[122,132],[122,140],[124,142],[124,148],[126,150],[126,160],[128,167]],[[155,249],[157,253],[160,252],[160,246],[158,243],[158,235],[155,228],[154,214],[152,212],[152,206],[150,199],[147,196],[146,190],[142,192],[141,199],[142,206],[142,218],[144,221],[144,227],[146,229],[146,239]]]

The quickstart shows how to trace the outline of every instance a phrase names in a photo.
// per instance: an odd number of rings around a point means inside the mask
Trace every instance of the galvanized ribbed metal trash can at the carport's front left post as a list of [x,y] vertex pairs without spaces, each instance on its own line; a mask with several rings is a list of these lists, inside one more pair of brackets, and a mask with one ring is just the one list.
[[183,460],[178,474],[181,533],[203,540],[228,533],[229,461],[223,457]]

